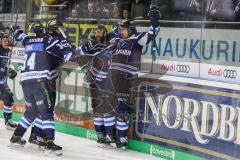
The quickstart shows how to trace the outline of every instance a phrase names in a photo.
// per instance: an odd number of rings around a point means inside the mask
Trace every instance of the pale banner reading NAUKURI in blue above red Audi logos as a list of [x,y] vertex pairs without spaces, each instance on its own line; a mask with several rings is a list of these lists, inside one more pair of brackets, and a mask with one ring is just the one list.
[[239,36],[237,30],[162,27],[156,37],[156,61],[149,43],[142,51],[142,70],[239,84]]

